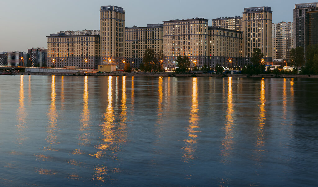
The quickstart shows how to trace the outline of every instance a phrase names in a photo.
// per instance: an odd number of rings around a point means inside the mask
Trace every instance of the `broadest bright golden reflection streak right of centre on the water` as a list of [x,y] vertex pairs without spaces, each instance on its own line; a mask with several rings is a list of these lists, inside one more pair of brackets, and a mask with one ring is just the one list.
[[194,159],[194,152],[196,151],[197,144],[197,133],[200,132],[198,130],[199,125],[199,117],[198,117],[198,96],[197,96],[197,77],[192,78],[192,102],[191,102],[191,111],[190,111],[190,126],[187,128],[187,133],[189,138],[184,140],[186,142],[186,146],[183,147],[183,162],[190,162]]

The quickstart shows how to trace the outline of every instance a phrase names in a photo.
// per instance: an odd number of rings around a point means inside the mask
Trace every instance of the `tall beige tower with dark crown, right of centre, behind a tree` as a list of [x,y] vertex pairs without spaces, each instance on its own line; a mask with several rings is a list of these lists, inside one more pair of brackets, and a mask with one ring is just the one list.
[[253,49],[260,48],[265,60],[272,59],[271,7],[245,8],[243,12],[244,54],[252,57]]

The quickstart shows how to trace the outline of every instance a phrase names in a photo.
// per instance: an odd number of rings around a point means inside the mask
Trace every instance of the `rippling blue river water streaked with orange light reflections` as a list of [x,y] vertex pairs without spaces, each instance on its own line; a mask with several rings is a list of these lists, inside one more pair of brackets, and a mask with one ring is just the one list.
[[315,186],[317,83],[1,76],[0,185]]

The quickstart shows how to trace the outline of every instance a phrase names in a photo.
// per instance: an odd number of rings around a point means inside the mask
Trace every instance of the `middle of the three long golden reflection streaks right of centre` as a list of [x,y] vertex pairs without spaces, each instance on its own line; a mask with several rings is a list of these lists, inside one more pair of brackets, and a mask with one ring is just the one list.
[[[222,150],[221,150],[221,155],[222,155],[222,162],[229,162],[226,158],[230,156],[230,151],[233,149],[232,144],[233,144],[233,93],[232,93],[232,77],[228,78],[228,91],[227,91],[227,108],[226,108],[226,124],[224,126],[224,131],[225,131],[225,137],[222,140]],[[223,81],[224,86],[223,90],[225,93],[225,80]]]

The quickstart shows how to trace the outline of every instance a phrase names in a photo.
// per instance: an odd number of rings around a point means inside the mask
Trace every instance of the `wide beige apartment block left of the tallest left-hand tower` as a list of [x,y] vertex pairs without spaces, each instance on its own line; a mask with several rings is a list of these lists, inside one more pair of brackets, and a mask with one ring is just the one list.
[[47,37],[47,66],[97,69],[100,62],[99,35],[51,34]]

